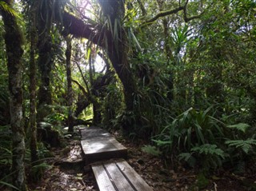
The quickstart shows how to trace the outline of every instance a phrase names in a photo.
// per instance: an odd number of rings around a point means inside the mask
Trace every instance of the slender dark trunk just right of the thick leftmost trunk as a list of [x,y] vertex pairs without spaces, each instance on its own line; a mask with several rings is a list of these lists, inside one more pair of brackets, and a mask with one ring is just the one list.
[[31,162],[38,161],[36,124],[36,74],[35,50],[37,45],[36,4],[30,8],[30,152]]

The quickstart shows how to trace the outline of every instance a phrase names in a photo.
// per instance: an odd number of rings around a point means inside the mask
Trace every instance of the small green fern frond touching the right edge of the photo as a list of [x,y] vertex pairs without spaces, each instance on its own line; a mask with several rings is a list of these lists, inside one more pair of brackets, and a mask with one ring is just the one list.
[[256,145],[256,140],[252,138],[248,138],[246,140],[229,140],[225,141],[225,144],[241,148],[243,152],[248,154],[252,147]]

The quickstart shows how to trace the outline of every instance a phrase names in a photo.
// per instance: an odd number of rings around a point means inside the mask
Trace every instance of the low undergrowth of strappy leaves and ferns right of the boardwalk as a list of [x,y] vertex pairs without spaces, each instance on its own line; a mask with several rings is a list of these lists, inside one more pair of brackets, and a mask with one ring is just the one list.
[[230,125],[218,120],[213,107],[190,108],[171,118],[170,124],[152,137],[154,146],[146,145],[142,150],[161,156],[172,165],[174,161],[182,161],[208,172],[255,156],[254,129],[246,123]]

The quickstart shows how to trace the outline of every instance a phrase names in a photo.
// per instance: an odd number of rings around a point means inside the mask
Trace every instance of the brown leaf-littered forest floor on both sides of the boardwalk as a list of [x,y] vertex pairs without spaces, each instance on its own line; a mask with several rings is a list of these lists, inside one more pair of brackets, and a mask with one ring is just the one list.
[[[198,173],[193,169],[185,169],[182,165],[175,166],[175,168],[167,167],[165,162],[158,157],[142,152],[142,142],[135,144],[122,137],[117,137],[117,139],[128,149],[128,163],[154,188],[154,191],[256,190],[255,163],[248,164],[250,168],[242,175],[234,175],[229,170],[220,170],[200,182]],[[43,173],[42,180],[38,184],[30,185],[30,190],[98,191],[93,173],[88,166],[83,166],[80,141],[69,140],[68,143],[64,149],[51,150],[54,157],[47,161],[50,168]]]

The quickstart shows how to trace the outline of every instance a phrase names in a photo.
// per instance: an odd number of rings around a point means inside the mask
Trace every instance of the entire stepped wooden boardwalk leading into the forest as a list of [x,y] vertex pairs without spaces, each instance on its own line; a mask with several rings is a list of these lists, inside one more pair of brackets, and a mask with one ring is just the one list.
[[153,191],[125,161],[127,149],[98,127],[80,129],[82,155],[100,191]]

